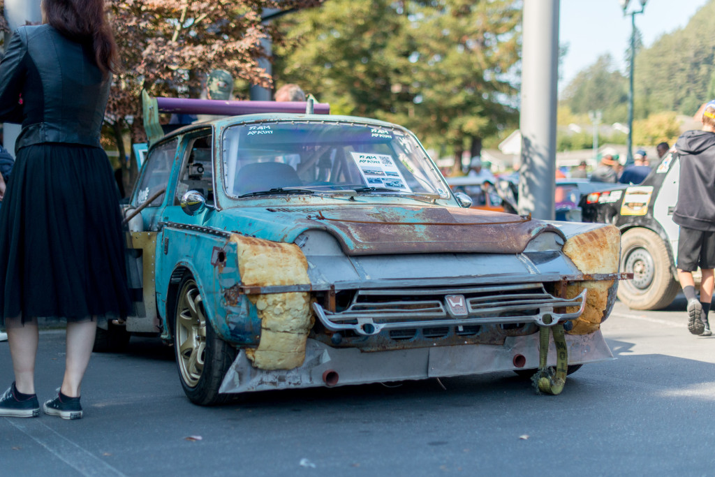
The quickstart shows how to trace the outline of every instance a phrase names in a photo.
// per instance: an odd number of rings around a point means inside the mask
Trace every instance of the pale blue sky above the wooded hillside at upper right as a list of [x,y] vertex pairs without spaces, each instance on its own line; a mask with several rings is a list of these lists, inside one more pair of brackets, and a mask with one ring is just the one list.
[[[707,1],[648,0],[644,13],[636,15],[636,27],[643,35],[645,46],[685,26]],[[627,72],[624,58],[631,41],[631,16],[623,16],[620,1],[561,0],[560,3],[558,41],[561,45],[568,44],[568,53],[559,67],[559,91],[604,53],[610,53],[621,71]],[[631,0],[628,11],[635,7],[640,9],[640,1]]]

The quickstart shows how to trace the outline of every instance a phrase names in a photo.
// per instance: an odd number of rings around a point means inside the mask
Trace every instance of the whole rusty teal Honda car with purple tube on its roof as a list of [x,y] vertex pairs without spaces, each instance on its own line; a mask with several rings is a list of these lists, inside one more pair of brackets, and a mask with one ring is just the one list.
[[[558,393],[611,358],[615,227],[469,209],[407,129],[323,104],[147,104],[137,313],[102,334],[173,343],[192,402],[537,369]],[[234,116],[164,134],[159,109]]]

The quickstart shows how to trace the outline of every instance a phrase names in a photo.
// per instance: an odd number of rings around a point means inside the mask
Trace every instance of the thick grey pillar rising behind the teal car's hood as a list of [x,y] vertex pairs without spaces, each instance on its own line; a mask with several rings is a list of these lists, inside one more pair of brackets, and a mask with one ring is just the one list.
[[559,0],[523,2],[519,213],[554,219]]

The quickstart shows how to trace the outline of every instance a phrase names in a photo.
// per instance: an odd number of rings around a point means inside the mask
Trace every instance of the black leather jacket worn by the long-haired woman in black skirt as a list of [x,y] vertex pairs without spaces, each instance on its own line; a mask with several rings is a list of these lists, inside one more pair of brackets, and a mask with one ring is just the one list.
[[46,24],[21,26],[0,63],[0,121],[22,124],[15,150],[43,142],[99,147],[110,80],[91,43]]

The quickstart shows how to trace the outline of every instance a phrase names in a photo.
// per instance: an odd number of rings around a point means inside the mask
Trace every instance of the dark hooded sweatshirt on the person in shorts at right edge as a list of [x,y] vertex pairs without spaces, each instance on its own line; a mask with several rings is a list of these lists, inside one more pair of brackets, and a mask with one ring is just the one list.
[[675,148],[680,185],[673,222],[696,230],[715,230],[715,133],[687,131]]

